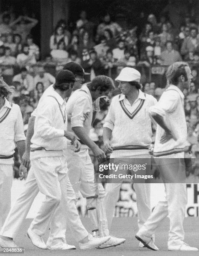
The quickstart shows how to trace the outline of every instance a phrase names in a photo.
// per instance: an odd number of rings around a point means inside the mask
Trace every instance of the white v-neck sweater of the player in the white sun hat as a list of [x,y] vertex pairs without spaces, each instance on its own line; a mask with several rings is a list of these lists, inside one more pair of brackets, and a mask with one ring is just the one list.
[[[138,99],[128,106],[124,95],[116,95],[105,118],[104,127],[112,131],[111,145],[118,146],[150,146],[152,142],[152,120],[149,108],[157,100],[139,90]],[[133,112],[130,112],[130,108]]]

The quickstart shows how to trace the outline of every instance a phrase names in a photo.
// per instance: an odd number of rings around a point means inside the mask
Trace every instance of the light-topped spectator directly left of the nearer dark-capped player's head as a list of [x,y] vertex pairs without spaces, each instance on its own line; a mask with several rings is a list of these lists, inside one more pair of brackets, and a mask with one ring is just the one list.
[[50,73],[46,73],[43,66],[40,66],[34,77],[34,84],[38,84],[38,82],[42,83],[44,90],[46,90],[51,84],[55,83],[55,78]]

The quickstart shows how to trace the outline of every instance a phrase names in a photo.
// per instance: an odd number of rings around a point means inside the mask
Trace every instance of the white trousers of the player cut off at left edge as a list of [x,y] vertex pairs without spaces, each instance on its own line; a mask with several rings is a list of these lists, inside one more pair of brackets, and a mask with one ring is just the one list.
[[13,165],[0,164],[0,229],[10,211],[12,183]]

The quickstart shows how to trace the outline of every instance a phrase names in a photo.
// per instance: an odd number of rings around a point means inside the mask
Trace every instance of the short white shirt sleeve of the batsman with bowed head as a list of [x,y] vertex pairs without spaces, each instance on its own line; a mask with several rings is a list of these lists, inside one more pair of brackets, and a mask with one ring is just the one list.
[[84,114],[90,112],[89,98],[86,96],[79,97],[71,113],[71,127],[83,127]]

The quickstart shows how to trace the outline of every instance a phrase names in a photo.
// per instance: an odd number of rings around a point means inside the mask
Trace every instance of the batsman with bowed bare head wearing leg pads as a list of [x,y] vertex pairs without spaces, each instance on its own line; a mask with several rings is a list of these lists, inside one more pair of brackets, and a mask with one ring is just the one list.
[[[109,235],[103,197],[105,190],[102,184],[94,183],[94,166],[89,156],[91,148],[98,161],[106,158],[102,151],[90,138],[89,131],[93,119],[93,101],[100,96],[106,96],[114,87],[112,79],[106,76],[97,76],[92,82],[83,84],[81,89],[73,92],[66,104],[67,115],[71,116],[68,131],[74,131],[82,146],[74,154],[69,144],[66,149],[66,161],[69,168],[69,179],[72,185],[80,182],[80,192],[87,199],[87,209],[93,225],[93,232],[97,236]],[[87,117],[85,118],[85,115]],[[111,237],[100,248],[107,248],[124,243],[124,238]]]

